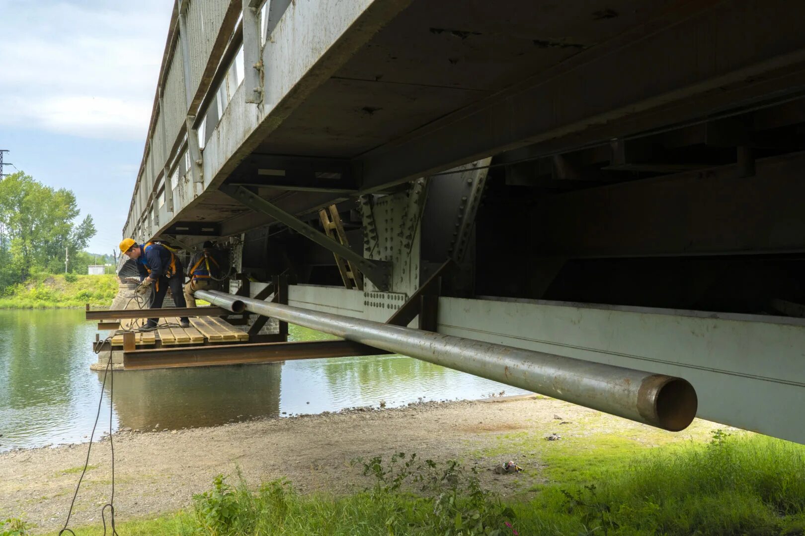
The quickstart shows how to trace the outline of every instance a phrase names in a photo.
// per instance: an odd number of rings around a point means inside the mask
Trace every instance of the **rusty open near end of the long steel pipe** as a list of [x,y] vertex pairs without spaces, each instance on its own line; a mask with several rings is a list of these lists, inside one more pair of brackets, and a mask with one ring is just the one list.
[[638,391],[638,411],[646,423],[670,432],[687,428],[698,408],[696,389],[683,378],[652,374]]

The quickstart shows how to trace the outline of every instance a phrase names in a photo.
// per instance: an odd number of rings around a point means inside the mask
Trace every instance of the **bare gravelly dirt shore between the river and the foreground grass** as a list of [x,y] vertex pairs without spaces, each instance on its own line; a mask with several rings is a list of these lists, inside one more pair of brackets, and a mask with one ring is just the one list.
[[[555,416],[576,424],[559,425]],[[584,423],[584,426],[580,426]],[[477,452],[502,432],[584,436],[601,429],[654,433],[653,428],[553,399],[514,398],[477,402],[423,403],[387,410],[345,411],[232,423],[216,428],[136,433],[114,438],[117,519],[181,509],[192,494],[208,489],[217,473],[240,468],[247,480],[287,477],[302,492],[343,493],[369,484],[349,460],[357,456],[416,452],[423,458],[492,467],[518,452],[485,459]],[[86,456],[86,444],[0,454],[0,519],[20,516],[37,530],[59,528]],[[539,480],[530,461],[525,477]],[[95,522],[109,496],[109,442],[93,446],[91,470],[76,501],[71,526]],[[525,473],[524,473],[525,474]],[[486,484],[504,494],[507,477],[485,472]],[[521,488],[522,489],[522,488]]]

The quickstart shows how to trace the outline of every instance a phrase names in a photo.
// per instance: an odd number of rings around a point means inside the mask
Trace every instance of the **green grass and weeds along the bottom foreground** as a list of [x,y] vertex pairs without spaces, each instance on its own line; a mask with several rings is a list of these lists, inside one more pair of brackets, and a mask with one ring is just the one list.
[[[743,432],[716,431],[705,441],[663,443],[663,437],[639,444],[606,433],[542,443],[502,436],[501,448],[530,444],[540,452],[543,482],[527,500],[501,501],[459,465],[406,465],[411,456],[403,456],[363,463],[374,487],[345,497],[300,495],[284,481],[230,488],[219,479],[196,496],[194,509],[122,522],[118,530],[132,536],[805,534],[805,446]],[[478,519],[480,528],[473,526]]]

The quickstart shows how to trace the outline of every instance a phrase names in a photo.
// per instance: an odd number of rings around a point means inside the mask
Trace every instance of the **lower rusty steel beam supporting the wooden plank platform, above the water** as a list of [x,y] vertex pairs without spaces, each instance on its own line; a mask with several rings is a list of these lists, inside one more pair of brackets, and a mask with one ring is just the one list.
[[159,350],[126,350],[123,352],[123,368],[124,370],[140,370],[179,366],[238,365],[382,354],[390,354],[390,352],[351,341],[188,346]]

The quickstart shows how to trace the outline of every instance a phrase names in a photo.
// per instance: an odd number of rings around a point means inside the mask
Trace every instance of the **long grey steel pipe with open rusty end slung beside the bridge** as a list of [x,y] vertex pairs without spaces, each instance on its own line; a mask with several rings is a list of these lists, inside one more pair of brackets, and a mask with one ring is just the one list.
[[[196,291],[226,307],[230,295]],[[696,416],[683,378],[237,297],[246,310],[678,432]]]

